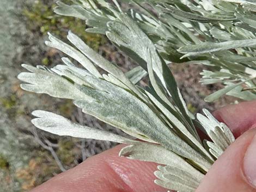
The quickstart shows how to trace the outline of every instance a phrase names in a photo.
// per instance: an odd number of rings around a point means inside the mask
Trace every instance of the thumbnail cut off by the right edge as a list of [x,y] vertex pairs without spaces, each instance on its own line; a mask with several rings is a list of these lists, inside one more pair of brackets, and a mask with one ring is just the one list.
[[256,136],[248,146],[243,158],[243,174],[249,184],[256,188]]

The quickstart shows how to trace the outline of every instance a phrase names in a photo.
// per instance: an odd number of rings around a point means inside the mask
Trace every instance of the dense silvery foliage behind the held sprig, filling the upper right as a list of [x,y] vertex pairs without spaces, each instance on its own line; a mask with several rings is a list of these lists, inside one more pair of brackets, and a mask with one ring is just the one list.
[[[119,20],[118,8],[105,1],[74,2],[58,2],[54,11],[85,20],[90,26],[87,32],[105,34],[109,21]],[[147,34],[164,60],[206,65],[209,70],[201,73],[201,82],[225,86],[205,101],[215,101],[225,94],[247,101],[256,98],[254,1],[125,2],[137,5],[137,9],[129,9],[126,14]],[[139,59],[124,50],[123,45],[119,48],[136,61]]]

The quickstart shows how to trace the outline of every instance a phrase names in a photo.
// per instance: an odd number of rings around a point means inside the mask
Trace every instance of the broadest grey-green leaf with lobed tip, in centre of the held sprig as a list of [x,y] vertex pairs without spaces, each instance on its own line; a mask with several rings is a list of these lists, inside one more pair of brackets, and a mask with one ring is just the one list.
[[202,165],[205,170],[210,168],[211,163],[173,133],[147,104],[106,80],[90,76],[86,80],[94,85],[94,89],[80,86],[80,90],[94,100],[74,102],[84,113],[139,139],[159,143],[168,150]]

